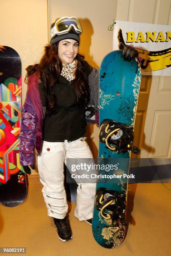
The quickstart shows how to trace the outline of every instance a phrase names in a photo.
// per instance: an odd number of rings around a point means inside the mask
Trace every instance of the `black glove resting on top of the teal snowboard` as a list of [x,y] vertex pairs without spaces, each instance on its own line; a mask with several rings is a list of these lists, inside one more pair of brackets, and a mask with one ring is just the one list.
[[119,49],[122,50],[122,58],[126,61],[131,61],[132,58],[138,56],[138,51],[129,45],[119,44]]

